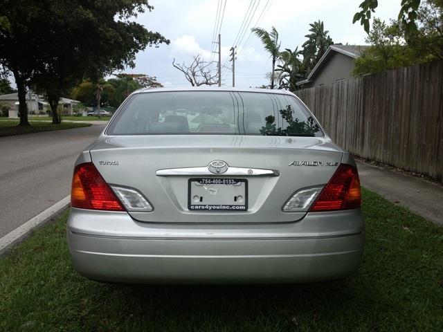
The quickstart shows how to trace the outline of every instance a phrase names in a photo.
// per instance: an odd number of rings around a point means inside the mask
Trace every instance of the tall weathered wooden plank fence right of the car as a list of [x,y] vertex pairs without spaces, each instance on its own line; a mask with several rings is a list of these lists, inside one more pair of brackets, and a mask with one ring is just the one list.
[[332,140],[356,156],[443,178],[443,62],[300,90]]

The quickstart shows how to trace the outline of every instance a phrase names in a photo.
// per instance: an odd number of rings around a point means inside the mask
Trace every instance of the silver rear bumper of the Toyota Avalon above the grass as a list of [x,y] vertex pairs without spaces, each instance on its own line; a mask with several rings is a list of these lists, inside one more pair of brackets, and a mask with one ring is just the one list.
[[[140,228],[138,235],[134,230],[130,234],[124,234],[123,230],[109,234],[114,225],[112,220],[107,231],[78,228],[84,218],[88,218],[89,225],[93,224],[94,214],[98,223],[106,214],[110,219],[121,219],[121,223],[134,223]],[[314,217],[321,219],[327,215],[314,214]],[[138,223],[120,212],[72,209],[69,250],[73,266],[80,274],[107,282],[315,282],[345,277],[360,264],[363,221],[359,210],[348,211],[340,218],[343,220],[345,216],[347,225],[354,224],[353,231],[314,235],[288,232],[287,228],[296,228],[297,223],[165,226]],[[312,218],[308,215],[305,219],[308,217]],[[235,227],[237,230],[231,232]],[[300,224],[298,228],[302,229]]]

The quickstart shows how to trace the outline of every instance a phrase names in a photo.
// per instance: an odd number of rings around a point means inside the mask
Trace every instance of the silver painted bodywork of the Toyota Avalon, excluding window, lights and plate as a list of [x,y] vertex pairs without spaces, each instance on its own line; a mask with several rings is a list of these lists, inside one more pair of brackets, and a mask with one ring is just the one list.
[[[287,91],[235,91],[296,98]],[[355,166],[326,135],[110,136],[108,127],[76,165],[92,162],[107,183],[140,191],[154,210],[71,208],[69,250],[82,275],[134,283],[311,282],[345,277],[358,268],[364,242],[360,209],[282,211],[296,190],[325,185],[340,163]],[[213,160],[223,160],[228,170],[211,173]],[[248,210],[188,210],[192,176],[246,179]]]

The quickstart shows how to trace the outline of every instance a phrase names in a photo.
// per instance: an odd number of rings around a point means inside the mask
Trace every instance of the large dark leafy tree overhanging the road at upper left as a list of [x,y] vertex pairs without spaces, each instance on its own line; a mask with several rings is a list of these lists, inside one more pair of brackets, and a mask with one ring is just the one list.
[[133,67],[138,51],[168,44],[130,21],[146,8],[153,9],[148,0],[15,0],[0,6],[0,64],[15,76],[20,123],[28,124],[26,86],[42,91],[57,123],[60,97],[82,77],[98,85],[112,71]]

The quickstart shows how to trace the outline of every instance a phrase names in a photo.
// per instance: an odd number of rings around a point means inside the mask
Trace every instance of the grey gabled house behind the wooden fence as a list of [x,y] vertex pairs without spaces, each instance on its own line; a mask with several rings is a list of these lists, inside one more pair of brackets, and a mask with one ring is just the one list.
[[354,60],[369,46],[341,45],[329,46],[306,80],[297,83],[303,89],[322,86],[347,80],[352,77]]

